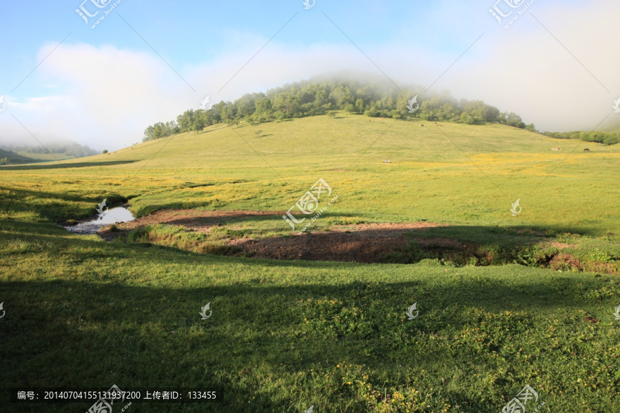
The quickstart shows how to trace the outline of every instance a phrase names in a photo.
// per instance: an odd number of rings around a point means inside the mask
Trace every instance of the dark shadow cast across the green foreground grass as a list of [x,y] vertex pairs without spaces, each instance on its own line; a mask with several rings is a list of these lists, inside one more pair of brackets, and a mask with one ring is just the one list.
[[[155,255],[149,259],[154,264],[170,263],[165,257],[155,259]],[[174,259],[175,265],[183,261],[182,257]],[[262,264],[248,266],[262,270]],[[278,265],[306,267],[297,263]],[[331,265],[335,271],[338,267]],[[437,372],[433,379],[440,385],[442,366],[454,356],[449,347],[428,347],[431,343],[422,337],[477,328],[492,317],[487,314],[504,311],[524,312],[514,325],[510,321],[506,327],[513,329],[513,335],[526,334],[527,330],[536,330],[536,317],[572,308],[576,302],[583,302],[583,290],[597,287],[594,279],[588,282],[581,278],[581,287],[575,288],[571,277],[556,278],[557,284],[543,279],[502,282],[483,276],[461,279],[456,285],[418,278],[379,284],[357,280],[340,285],[265,286],[261,284],[265,280],[256,275],[244,277],[234,286],[193,288],[130,286],[112,278],[101,281],[2,285],[8,317],[3,319],[0,332],[8,383],[29,388],[116,384],[123,390],[217,387],[223,389],[225,403],[201,405],[200,411],[285,411],[298,403],[295,392],[308,386],[296,383],[291,376],[333,368],[343,360],[384,372],[389,381],[398,381],[406,370],[402,365],[417,360],[416,369]],[[209,282],[205,280],[205,284]],[[365,318],[349,319],[345,323],[349,326],[340,326],[335,316],[344,317],[346,311],[329,313],[333,308],[327,308],[325,313],[326,307],[317,304],[318,299],[362,308]],[[308,300],[311,304],[300,304]],[[386,319],[389,313],[404,314],[412,300],[423,309],[422,317],[407,321],[409,324]],[[199,312],[207,303],[213,313],[203,320]],[[324,317],[323,323],[320,317]],[[310,327],[304,326],[307,318]],[[415,345],[418,340],[420,346]],[[491,350],[508,343],[507,336],[497,337]],[[465,351],[462,357],[468,357],[469,363],[495,368],[485,365],[488,359],[482,354]],[[467,364],[463,359],[456,362]],[[280,380],[299,388],[267,390],[269,383]],[[339,382],[340,377],[331,383],[338,388]],[[310,386],[320,391],[319,383]],[[330,392],[329,388],[323,391]],[[449,399],[488,411],[487,405],[466,392],[453,390]],[[165,410],[169,406],[143,405],[148,409],[138,411],[170,411]]]

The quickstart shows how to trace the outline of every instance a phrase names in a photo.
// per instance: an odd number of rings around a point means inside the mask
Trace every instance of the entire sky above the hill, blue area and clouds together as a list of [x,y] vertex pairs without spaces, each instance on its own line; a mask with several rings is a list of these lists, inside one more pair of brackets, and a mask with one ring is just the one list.
[[[594,127],[620,96],[619,48],[609,44],[620,6],[537,0],[528,11],[541,23],[526,12],[504,29],[488,12],[494,3],[316,0],[305,10],[301,0],[122,0],[91,29],[74,11],[81,0],[0,0],[0,96],[7,103],[0,141],[28,139],[15,116],[42,140],[114,149],[141,140],[151,123],[196,109],[207,94],[234,100],[339,70],[382,76],[374,64],[399,84],[424,86],[454,63],[434,89],[484,99],[539,129]],[[576,95],[586,107],[566,107]],[[613,122],[620,120],[606,120]]]

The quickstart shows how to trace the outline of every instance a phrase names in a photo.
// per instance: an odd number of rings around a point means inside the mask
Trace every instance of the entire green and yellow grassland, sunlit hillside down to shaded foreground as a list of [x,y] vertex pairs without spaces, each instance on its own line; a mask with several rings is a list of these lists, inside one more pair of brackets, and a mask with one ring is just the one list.
[[[620,411],[614,273],[258,260],[104,242],[56,225],[92,215],[103,198],[128,200],[138,216],[286,211],[323,178],[339,198],[317,229],[426,220],[448,224],[433,236],[492,245],[502,231],[517,244],[544,235],[619,260],[619,145],[421,124],[340,114],[220,125],[1,167],[3,380],[224,390],[220,405],[134,403],[128,412],[499,412],[526,384],[545,403],[539,412]],[[517,198],[523,211],[513,217]],[[243,224],[251,236],[290,236],[281,218]],[[207,302],[213,316],[201,320]],[[420,315],[409,320],[414,302]]]

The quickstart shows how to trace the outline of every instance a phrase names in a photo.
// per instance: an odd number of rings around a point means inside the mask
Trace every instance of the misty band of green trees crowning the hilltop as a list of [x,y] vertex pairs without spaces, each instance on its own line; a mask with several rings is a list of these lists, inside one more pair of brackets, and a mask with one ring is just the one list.
[[[416,91],[417,90],[417,91]],[[413,114],[406,105],[417,95],[420,107]],[[362,84],[358,81],[292,83],[267,93],[245,94],[234,102],[220,102],[209,110],[189,109],[171,122],[158,122],[145,129],[143,141],[165,138],[187,131],[202,131],[216,123],[238,125],[302,118],[345,110],[351,114],[394,119],[421,118],[429,121],[453,121],[472,124],[503,123],[535,131],[520,116],[499,112],[482,100],[456,100],[448,93],[424,94],[420,88],[397,89],[393,86]]]

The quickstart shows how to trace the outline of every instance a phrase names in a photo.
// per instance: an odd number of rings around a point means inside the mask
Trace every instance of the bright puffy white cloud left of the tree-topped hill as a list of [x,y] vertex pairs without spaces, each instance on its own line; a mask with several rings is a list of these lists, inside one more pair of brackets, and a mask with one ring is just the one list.
[[[42,47],[38,59],[51,47]],[[176,74],[162,65],[158,57],[112,46],[61,45],[38,74],[46,84],[62,85],[63,94],[13,101],[6,112],[41,141],[72,139],[96,149],[123,147],[141,140],[149,123],[172,119],[190,106],[176,92]],[[3,114],[0,123],[3,140],[9,136],[36,144],[12,116]]]

